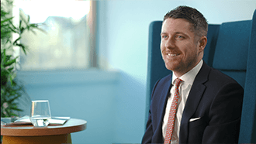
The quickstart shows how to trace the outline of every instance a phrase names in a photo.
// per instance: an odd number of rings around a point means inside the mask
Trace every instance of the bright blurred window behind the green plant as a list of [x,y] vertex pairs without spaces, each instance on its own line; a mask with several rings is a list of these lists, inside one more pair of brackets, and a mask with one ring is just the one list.
[[14,5],[19,19],[29,15],[30,23],[41,23],[44,31],[22,34],[28,50],[20,53],[20,70],[97,67],[94,1],[16,0]]

